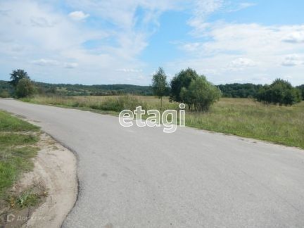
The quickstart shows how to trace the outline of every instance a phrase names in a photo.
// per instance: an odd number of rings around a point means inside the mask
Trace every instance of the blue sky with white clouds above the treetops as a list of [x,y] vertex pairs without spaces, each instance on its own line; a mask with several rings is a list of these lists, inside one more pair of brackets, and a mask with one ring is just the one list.
[[0,80],[151,84],[191,67],[215,84],[304,84],[304,1],[0,0]]

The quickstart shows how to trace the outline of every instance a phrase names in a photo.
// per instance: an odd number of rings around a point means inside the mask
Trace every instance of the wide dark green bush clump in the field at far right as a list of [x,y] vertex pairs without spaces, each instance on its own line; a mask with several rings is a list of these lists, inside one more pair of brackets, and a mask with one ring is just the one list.
[[287,106],[300,102],[302,98],[299,89],[293,88],[285,80],[277,79],[272,84],[261,87],[256,99],[266,104]]

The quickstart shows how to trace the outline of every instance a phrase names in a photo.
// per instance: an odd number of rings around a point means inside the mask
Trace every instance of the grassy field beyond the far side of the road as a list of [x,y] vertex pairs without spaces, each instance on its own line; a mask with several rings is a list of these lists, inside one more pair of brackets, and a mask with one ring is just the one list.
[[[160,109],[153,96],[34,97],[32,103],[76,107],[117,114],[119,110]],[[166,98],[163,109],[178,109]],[[253,99],[220,99],[208,113],[186,112],[186,126],[304,148],[304,101],[295,106],[265,106]]]

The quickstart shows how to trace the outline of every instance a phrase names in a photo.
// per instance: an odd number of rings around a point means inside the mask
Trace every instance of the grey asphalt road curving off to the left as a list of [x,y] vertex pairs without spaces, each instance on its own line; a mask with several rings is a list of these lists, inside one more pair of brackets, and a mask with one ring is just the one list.
[[77,153],[80,193],[63,227],[304,227],[304,151],[0,100]]

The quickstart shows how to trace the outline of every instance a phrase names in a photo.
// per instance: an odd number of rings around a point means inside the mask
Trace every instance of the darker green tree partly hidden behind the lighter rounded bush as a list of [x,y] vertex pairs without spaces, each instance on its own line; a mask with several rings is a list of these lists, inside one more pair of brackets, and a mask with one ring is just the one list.
[[181,70],[173,79],[171,80],[171,91],[170,91],[170,100],[171,101],[182,101],[180,94],[182,88],[188,88],[191,81],[196,79],[199,75],[197,72],[191,68],[186,70]]

